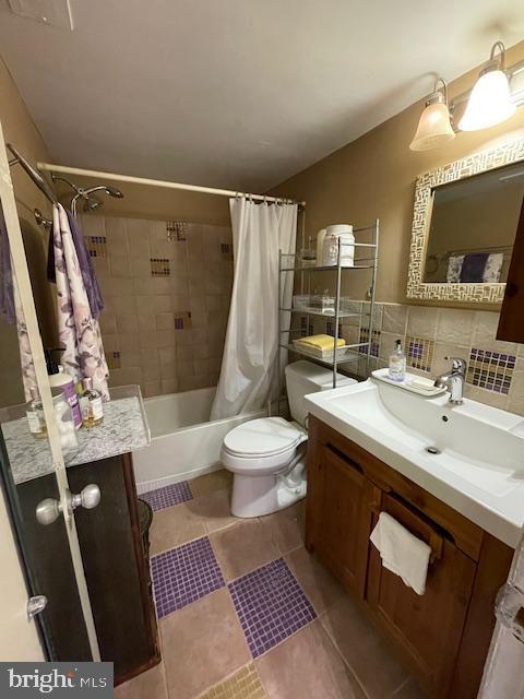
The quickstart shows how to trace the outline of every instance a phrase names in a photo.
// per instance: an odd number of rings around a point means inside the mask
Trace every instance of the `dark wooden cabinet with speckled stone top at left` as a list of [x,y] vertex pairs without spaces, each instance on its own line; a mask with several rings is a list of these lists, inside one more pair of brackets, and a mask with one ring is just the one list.
[[[102,660],[115,667],[115,684],[157,664],[158,631],[150,579],[147,507],[136,496],[131,452],[150,441],[138,387],[114,389],[104,422],[79,430],[79,449],[66,457],[71,493],[99,488],[94,509],[78,507],[74,521]],[[16,507],[13,516],[35,592],[46,594],[39,615],[49,657],[91,661],[92,653],[69,555],[62,517],[37,517],[58,498],[47,440],[35,440],[24,406],[3,408],[0,458]],[[4,451],[3,451],[4,446]]]

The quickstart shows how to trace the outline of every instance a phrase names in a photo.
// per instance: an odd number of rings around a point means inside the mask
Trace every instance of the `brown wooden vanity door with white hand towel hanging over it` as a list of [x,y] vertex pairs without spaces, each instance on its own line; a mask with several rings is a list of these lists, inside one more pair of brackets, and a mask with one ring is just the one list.
[[449,697],[472,594],[476,564],[424,514],[394,496],[382,497],[389,512],[433,550],[426,593],[418,595],[386,570],[371,545],[367,599],[385,632],[436,697]]

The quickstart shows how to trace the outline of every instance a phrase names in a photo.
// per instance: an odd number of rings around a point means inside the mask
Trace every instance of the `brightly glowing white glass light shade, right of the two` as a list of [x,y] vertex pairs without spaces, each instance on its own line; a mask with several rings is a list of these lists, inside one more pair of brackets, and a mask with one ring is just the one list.
[[458,128],[462,131],[488,129],[509,119],[515,109],[508,75],[502,70],[490,70],[475,83]]

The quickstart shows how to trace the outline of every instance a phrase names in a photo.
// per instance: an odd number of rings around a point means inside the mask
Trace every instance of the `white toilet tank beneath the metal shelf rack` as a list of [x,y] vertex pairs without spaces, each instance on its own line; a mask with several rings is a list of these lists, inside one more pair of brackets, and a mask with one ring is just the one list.
[[[317,391],[327,391],[333,388],[333,371],[312,362],[294,362],[285,368],[287,400],[291,418],[306,426],[308,408],[303,396]],[[342,374],[336,375],[336,387],[357,383]]]

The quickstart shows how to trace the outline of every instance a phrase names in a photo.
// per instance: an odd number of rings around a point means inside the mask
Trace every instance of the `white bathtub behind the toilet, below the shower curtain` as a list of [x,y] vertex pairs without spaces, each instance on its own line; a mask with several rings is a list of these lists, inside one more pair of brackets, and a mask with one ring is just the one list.
[[221,464],[227,433],[264,411],[210,422],[215,389],[198,389],[145,399],[151,445],[133,453],[139,495],[194,478]]

